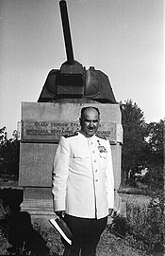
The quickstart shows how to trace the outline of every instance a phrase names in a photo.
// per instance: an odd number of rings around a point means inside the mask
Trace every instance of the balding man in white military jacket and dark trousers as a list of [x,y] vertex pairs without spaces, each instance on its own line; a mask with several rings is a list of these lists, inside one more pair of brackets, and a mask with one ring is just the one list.
[[97,136],[100,112],[81,110],[81,131],[61,137],[54,159],[53,200],[55,213],[64,217],[73,233],[71,247],[63,255],[95,256],[107,215],[114,206],[111,149],[106,137]]

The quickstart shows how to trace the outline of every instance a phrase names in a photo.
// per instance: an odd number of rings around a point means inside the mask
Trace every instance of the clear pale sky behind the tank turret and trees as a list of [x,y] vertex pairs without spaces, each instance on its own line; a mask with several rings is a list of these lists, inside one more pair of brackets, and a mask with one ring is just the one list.
[[[58,0],[0,0],[0,128],[37,102],[50,70],[66,61]],[[107,74],[116,101],[147,123],[165,117],[164,1],[67,0],[74,60]]]

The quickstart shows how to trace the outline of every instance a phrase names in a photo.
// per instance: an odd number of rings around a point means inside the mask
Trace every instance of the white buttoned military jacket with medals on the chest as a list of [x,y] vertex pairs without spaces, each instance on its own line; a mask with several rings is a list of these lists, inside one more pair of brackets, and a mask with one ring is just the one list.
[[81,133],[61,137],[53,166],[54,210],[82,218],[103,218],[114,205],[109,141]]

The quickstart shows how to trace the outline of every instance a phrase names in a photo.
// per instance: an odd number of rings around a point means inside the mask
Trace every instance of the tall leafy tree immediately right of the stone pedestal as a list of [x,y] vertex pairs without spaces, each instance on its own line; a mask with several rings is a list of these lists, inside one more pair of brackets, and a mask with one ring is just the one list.
[[145,164],[142,154],[145,148],[146,123],[143,112],[137,103],[127,100],[120,103],[122,124],[124,128],[124,145],[122,149],[122,174],[123,181],[128,179],[128,173],[137,172]]

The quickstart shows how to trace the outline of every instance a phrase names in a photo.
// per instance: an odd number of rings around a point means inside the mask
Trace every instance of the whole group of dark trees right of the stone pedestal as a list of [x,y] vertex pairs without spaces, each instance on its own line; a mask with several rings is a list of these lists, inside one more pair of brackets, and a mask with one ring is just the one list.
[[[163,187],[163,129],[164,121],[147,124],[137,103],[127,100],[120,103],[124,144],[122,149],[122,180],[133,185],[135,173],[147,168],[140,180],[151,189]],[[128,178],[129,177],[129,178]],[[134,183],[135,185],[135,183]]]

